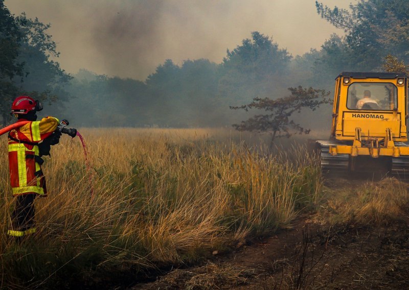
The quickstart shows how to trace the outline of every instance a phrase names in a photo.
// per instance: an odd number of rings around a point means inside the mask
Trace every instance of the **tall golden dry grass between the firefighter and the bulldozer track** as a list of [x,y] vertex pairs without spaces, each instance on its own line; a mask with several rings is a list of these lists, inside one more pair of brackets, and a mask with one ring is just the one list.
[[91,170],[79,140],[64,136],[43,165],[50,194],[35,201],[38,232],[21,243],[6,236],[13,198],[1,140],[2,287],[136,280],[146,269],[268,235],[321,190],[319,167],[305,150],[272,154],[254,136],[230,130],[80,132]]

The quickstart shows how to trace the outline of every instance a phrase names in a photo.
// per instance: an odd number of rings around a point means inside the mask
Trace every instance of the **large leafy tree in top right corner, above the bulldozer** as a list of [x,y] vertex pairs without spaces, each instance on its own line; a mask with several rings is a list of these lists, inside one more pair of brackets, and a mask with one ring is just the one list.
[[379,69],[388,54],[409,60],[409,2],[359,0],[350,9],[333,9],[315,2],[317,12],[346,33],[348,57],[357,69]]

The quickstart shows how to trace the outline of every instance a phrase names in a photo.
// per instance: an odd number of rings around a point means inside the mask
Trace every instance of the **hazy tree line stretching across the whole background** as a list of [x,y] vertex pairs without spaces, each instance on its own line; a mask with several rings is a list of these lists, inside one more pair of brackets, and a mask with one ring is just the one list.
[[[175,64],[168,59],[145,80],[134,80],[98,75],[86,68],[67,74],[51,60],[59,54],[47,32],[50,24],[25,14],[13,16],[0,0],[3,123],[10,122],[14,96],[28,93],[77,127],[231,126],[250,115],[230,107],[248,104],[252,112],[258,108],[255,100],[292,100],[294,91],[304,93],[311,91],[309,87],[323,96],[323,90],[332,91],[339,72],[382,71],[388,55],[409,63],[406,1],[360,0],[349,9],[331,9],[316,2],[315,7],[317,14],[345,33],[331,35],[319,50],[293,57],[271,36],[255,31],[227,50],[221,63],[197,59]],[[320,110],[330,119],[329,106]],[[307,127],[324,123],[312,114],[304,110],[296,117]],[[291,121],[298,128],[298,122]],[[283,135],[288,132],[284,130]]]

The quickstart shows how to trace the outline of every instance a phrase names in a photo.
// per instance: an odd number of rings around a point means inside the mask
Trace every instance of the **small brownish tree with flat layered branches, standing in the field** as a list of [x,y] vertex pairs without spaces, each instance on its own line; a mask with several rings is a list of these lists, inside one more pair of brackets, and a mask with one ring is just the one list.
[[301,86],[288,88],[291,95],[272,100],[269,98],[254,98],[253,102],[240,107],[230,107],[231,109],[257,109],[269,112],[267,114],[257,114],[233,127],[239,131],[250,131],[257,133],[269,133],[271,144],[277,137],[290,137],[293,134],[308,134],[310,129],[305,129],[290,119],[295,112],[301,112],[303,108],[315,110],[322,104],[331,103],[327,99],[329,92],[309,87],[305,89]]

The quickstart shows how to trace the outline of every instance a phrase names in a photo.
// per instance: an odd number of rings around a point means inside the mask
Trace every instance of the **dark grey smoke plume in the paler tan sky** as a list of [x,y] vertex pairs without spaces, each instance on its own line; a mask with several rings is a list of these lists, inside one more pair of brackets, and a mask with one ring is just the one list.
[[[102,1],[90,11],[100,19],[91,28],[90,44],[101,58],[104,71],[110,75],[142,78],[144,67],[152,67],[161,47],[161,18],[163,0],[146,2]],[[142,73],[139,71],[143,71]]]

